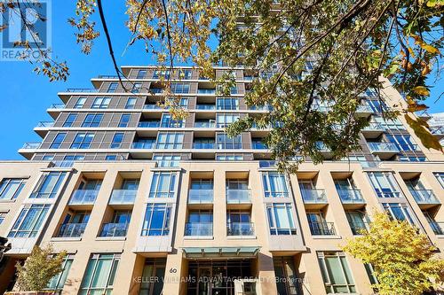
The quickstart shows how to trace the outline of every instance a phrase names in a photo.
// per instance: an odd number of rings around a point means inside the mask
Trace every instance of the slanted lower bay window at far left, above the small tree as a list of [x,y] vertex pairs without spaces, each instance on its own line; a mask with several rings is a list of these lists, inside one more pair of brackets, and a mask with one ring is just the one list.
[[14,222],[8,237],[36,237],[50,207],[51,205],[49,204],[24,206],[19,217]]

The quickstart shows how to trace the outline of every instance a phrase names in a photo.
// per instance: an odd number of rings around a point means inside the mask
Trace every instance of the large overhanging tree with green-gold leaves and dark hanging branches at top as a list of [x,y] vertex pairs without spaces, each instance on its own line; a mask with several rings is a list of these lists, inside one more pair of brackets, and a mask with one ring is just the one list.
[[[85,54],[91,52],[99,37],[91,21],[97,8],[115,72],[123,89],[130,89],[131,82],[115,61],[101,0],[76,3],[76,17],[68,19],[77,30],[76,42]],[[212,65],[250,69],[254,79],[245,97],[247,105],[269,105],[273,111],[242,118],[227,132],[236,136],[253,126],[273,126],[265,143],[278,167],[289,171],[304,159],[321,162],[321,143],[332,151],[333,159],[360,149],[359,132],[369,122],[354,113],[367,89],[375,89],[383,105],[381,76],[391,78],[408,103],[408,107],[389,105],[391,110],[381,107],[385,120],[426,109],[421,103],[430,95],[426,82],[440,77],[442,0],[126,0],[126,4],[129,44],[145,43],[161,68],[192,63],[218,84],[222,95],[229,94],[234,81],[229,73],[216,79]],[[212,39],[218,40],[215,48],[210,46]],[[43,65],[36,71],[50,79],[66,78],[63,65],[60,70],[51,60]],[[169,79],[164,84],[171,113],[186,116],[179,110],[179,97],[170,92]],[[424,121],[408,118],[427,148],[442,151],[426,132]]]

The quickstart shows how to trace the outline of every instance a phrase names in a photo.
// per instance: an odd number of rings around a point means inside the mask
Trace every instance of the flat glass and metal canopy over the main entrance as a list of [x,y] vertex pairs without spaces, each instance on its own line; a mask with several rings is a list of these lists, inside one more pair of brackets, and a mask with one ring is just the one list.
[[253,258],[258,255],[259,247],[186,247],[182,250],[186,258]]

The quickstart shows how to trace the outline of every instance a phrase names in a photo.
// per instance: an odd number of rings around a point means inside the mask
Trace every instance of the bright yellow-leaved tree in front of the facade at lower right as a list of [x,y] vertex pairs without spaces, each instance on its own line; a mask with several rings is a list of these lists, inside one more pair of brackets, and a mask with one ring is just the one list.
[[393,221],[377,213],[369,230],[343,247],[345,252],[371,264],[381,295],[420,295],[444,283],[444,260],[427,236],[407,221]]

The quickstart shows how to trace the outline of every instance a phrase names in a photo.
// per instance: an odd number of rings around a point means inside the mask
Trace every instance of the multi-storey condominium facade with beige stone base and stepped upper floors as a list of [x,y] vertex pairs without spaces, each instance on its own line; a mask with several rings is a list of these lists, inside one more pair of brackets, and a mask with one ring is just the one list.
[[[369,91],[355,113],[370,121],[362,151],[322,165],[307,159],[296,174],[277,172],[253,128],[224,128],[249,108],[254,76],[234,74],[229,97],[199,71],[123,67],[92,79],[93,89],[59,93],[62,104],[26,144],[26,161],[0,162],[0,236],[12,249],[0,291],[12,289],[14,264],[34,245],[67,251],[48,289],[62,294],[373,294],[372,270],[340,249],[387,211],[444,250],[444,156],[421,144],[406,120],[386,121]],[[182,95],[186,120],[156,103],[162,77]],[[388,102],[402,104],[384,81]],[[316,105],[328,112],[328,105]],[[438,254],[440,254],[440,252]]]

